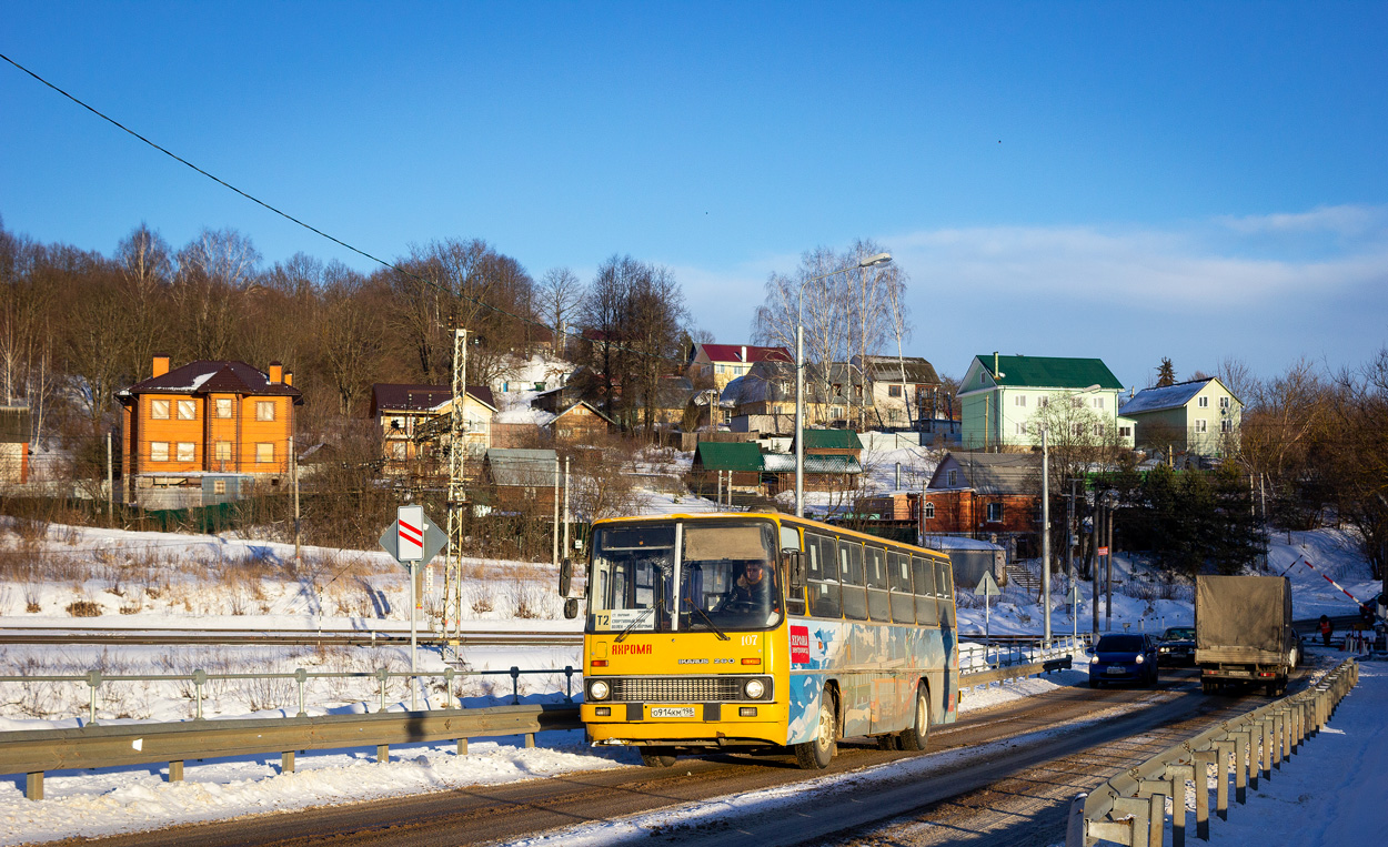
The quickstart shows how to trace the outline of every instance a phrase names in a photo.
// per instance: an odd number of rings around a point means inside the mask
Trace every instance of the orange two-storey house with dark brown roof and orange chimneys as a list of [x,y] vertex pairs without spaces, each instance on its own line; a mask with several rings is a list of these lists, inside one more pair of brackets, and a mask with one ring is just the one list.
[[304,403],[279,362],[196,361],[117,394],[122,408],[121,479],[126,503],[187,508],[289,483],[294,407]]

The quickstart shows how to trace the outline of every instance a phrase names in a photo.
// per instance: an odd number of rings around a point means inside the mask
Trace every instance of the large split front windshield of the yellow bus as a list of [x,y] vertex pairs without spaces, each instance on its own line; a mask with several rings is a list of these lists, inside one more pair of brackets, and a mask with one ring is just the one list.
[[765,630],[783,610],[769,521],[597,526],[589,585],[590,632]]

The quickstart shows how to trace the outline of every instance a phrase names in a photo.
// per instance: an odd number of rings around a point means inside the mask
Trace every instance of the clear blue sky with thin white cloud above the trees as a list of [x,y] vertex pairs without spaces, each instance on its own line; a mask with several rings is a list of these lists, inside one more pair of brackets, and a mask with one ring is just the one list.
[[[872,237],[911,351],[1145,386],[1388,342],[1388,4],[0,0],[0,53],[383,257],[676,269],[747,339],[773,271]],[[0,215],[110,253],[235,226],[368,262],[0,64]]]

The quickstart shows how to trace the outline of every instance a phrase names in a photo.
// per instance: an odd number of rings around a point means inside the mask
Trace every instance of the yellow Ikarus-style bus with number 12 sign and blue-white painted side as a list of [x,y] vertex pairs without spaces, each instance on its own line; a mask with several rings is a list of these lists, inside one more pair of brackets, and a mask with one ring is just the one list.
[[[561,571],[568,597],[573,565]],[[959,691],[941,553],[780,514],[597,521],[583,597],[583,722],[651,766],[708,748],[794,751],[841,737],[924,750]]]

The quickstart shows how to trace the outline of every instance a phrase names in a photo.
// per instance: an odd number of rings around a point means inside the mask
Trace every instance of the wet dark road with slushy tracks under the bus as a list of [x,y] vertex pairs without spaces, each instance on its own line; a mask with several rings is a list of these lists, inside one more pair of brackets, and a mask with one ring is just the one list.
[[711,755],[668,771],[573,773],[81,843],[452,847],[541,835],[565,843],[576,836],[552,830],[790,786],[775,807],[719,804],[693,822],[619,823],[591,843],[908,844],[967,829],[985,841],[1045,844],[1063,840],[1063,810],[1077,790],[1170,744],[1173,733],[1263,701],[1203,696],[1192,671],[1166,671],[1155,690],[1065,687],[970,712],[937,728],[926,754],[848,741],[820,773],[790,757]]

